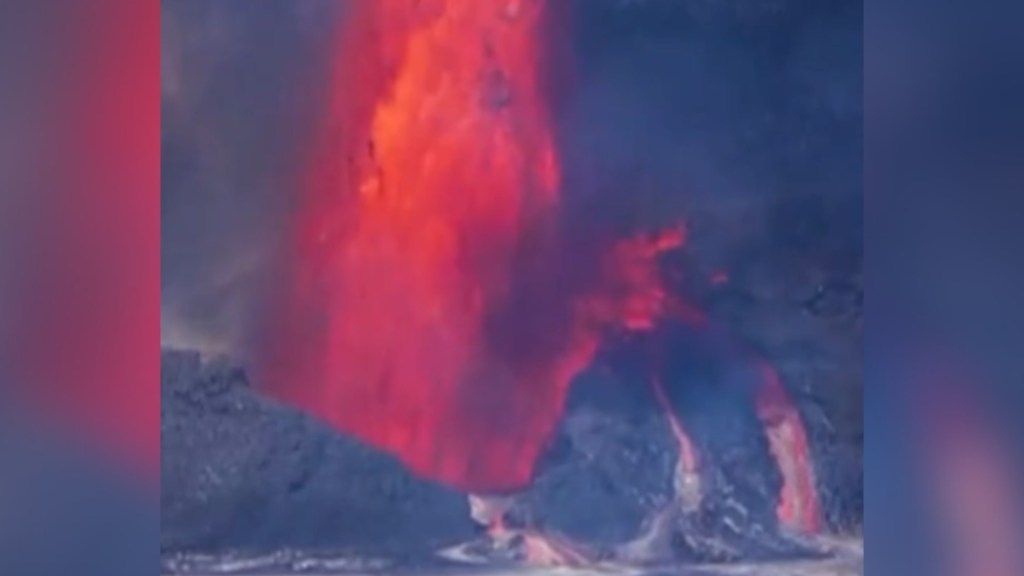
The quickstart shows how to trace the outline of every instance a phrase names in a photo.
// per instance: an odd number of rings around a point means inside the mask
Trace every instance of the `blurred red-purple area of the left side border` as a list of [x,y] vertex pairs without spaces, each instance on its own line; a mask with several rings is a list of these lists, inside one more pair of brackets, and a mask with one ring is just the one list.
[[48,168],[17,216],[36,220],[7,239],[27,262],[4,320],[9,380],[30,416],[156,483],[160,2],[12,4],[5,17],[33,27],[15,57],[45,67],[32,125]]

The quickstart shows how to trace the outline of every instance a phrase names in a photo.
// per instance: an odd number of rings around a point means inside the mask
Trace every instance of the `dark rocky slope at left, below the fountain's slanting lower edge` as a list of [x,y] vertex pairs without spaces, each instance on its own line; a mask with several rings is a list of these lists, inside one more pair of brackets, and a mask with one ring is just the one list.
[[249,388],[244,372],[165,352],[161,545],[417,556],[473,537],[465,496]]

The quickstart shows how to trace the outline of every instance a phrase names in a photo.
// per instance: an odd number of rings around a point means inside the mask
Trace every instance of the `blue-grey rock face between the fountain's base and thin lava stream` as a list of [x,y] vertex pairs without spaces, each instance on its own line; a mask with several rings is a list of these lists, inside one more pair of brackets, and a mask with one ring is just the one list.
[[624,543],[672,502],[677,456],[646,382],[584,374],[519,513],[531,527],[579,542]]

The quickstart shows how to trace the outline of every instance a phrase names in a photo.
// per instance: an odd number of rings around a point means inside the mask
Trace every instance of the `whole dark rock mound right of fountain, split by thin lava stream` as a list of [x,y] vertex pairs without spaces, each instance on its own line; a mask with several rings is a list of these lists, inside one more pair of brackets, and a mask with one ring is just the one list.
[[[679,445],[643,374],[641,349],[667,342],[659,373],[699,454],[701,498],[677,495]],[[731,348],[730,348],[731,349]],[[666,330],[607,359],[613,370],[573,384],[565,417],[513,519],[632,562],[792,557],[807,550],[779,532],[781,477],[754,411],[753,359],[715,336]]]

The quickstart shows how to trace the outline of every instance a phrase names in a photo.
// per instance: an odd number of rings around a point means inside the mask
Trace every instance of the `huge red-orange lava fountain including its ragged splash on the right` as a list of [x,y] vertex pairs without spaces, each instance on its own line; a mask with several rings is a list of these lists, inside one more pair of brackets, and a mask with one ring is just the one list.
[[266,379],[420,475],[522,489],[604,334],[702,322],[657,274],[683,230],[568,241],[545,2],[353,4]]

